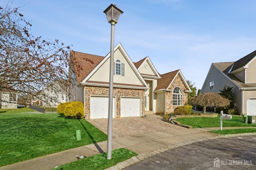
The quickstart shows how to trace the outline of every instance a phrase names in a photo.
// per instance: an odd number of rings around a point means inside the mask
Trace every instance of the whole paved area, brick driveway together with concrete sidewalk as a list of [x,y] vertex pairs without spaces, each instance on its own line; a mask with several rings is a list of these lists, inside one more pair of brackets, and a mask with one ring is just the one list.
[[[143,160],[150,155],[152,156],[174,147],[208,139],[216,139],[218,137],[225,137],[224,135],[208,132],[213,129],[219,129],[219,127],[187,129],[161,121],[160,118],[161,117],[158,115],[147,115],[144,118],[128,117],[113,119],[112,150],[125,148],[132,150],[139,155],[130,159],[130,163],[127,160],[126,162],[109,169],[122,169],[125,167],[124,164],[128,166],[136,161]],[[92,119],[89,120],[89,122],[107,134],[108,119]],[[223,129],[228,129],[228,127],[223,127]],[[24,162],[18,162],[8,166],[2,166],[0,167],[0,170],[50,170],[56,166],[78,160],[76,155],[89,157],[106,151],[107,141],[103,141]]]

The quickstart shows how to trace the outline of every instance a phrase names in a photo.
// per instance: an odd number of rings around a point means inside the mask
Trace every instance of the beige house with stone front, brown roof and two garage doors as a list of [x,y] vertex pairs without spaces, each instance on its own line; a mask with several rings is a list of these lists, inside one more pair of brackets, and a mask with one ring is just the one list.
[[[70,101],[84,103],[86,119],[107,118],[110,53],[101,57],[71,51],[70,57]],[[114,48],[113,117],[171,113],[187,103],[188,92],[180,70],[160,75],[149,57],[133,63],[120,43]]]

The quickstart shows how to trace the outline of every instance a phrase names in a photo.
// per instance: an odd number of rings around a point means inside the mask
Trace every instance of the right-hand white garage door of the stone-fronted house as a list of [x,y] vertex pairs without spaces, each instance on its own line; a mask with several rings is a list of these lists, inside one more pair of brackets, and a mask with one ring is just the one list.
[[140,98],[121,98],[121,117],[137,117],[141,112]]

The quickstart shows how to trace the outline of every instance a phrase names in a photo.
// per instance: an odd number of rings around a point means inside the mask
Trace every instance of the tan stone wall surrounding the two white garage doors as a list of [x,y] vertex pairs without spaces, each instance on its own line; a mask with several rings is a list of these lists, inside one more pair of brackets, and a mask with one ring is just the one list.
[[[108,87],[97,87],[97,86],[86,86],[84,87],[84,111],[85,111],[85,119],[90,119],[90,96],[108,96],[109,88]],[[127,88],[114,88],[113,96],[116,96],[116,117],[120,118],[121,114],[121,104],[120,104],[120,96],[126,97],[141,97],[141,113],[144,113],[144,105],[145,105],[145,91],[144,89],[127,89]]]

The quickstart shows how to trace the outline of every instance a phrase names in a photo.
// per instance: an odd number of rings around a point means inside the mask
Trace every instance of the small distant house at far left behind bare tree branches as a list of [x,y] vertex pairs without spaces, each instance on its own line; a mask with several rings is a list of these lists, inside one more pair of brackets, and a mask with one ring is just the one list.
[[7,88],[4,88],[2,92],[0,92],[0,109],[17,109],[18,92],[16,90],[12,90],[10,85]]

